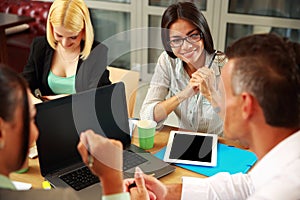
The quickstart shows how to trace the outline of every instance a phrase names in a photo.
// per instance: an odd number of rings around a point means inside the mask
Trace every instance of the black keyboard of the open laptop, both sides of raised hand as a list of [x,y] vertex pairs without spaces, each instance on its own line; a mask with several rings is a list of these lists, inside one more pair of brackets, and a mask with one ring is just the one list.
[[[138,166],[146,161],[147,160],[145,158],[136,153],[131,151],[123,151],[123,171]],[[64,174],[60,176],[60,178],[76,191],[99,182],[99,178],[95,176],[86,166]]]

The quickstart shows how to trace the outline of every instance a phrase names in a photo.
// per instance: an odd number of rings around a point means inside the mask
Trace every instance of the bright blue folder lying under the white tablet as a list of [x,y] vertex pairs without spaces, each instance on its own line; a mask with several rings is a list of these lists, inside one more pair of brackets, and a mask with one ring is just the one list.
[[[164,147],[154,155],[163,160],[165,152],[166,147]],[[247,173],[256,161],[256,155],[250,151],[218,143],[216,167],[178,163],[174,164],[179,167],[197,172],[199,174],[203,174],[205,176],[212,176],[219,172],[228,172],[230,174],[235,174],[238,172]]]

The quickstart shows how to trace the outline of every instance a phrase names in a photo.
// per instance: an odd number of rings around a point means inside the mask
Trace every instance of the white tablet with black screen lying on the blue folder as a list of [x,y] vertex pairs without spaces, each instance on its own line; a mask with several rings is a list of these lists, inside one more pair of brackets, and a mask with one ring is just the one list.
[[164,161],[216,166],[217,143],[218,136],[214,134],[171,131]]

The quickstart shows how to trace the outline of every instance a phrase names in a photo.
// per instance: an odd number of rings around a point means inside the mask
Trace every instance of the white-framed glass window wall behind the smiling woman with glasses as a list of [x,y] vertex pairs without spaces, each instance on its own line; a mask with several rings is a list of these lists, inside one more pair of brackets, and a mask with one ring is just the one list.
[[[91,9],[96,39],[114,46],[109,47],[110,65],[140,71],[142,81],[150,81],[163,51],[159,30],[161,15],[168,5],[177,1],[86,1]],[[189,1],[195,2],[206,17],[218,50],[224,51],[236,39],[253,33],[274,32],[300,42],[300,1]]]

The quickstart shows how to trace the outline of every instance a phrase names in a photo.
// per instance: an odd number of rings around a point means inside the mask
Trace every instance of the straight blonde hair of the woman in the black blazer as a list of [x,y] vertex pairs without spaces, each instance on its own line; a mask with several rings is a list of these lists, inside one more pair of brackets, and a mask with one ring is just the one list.
[[53,27],[63,26],[72,32],[84,31],[85,40],[80,58],[85,60],[94,42],[94,30],[90,19],[89,10],[83,0],[54,0],[47,18],[47,40],[53,49],[57,42],[54,39]]

